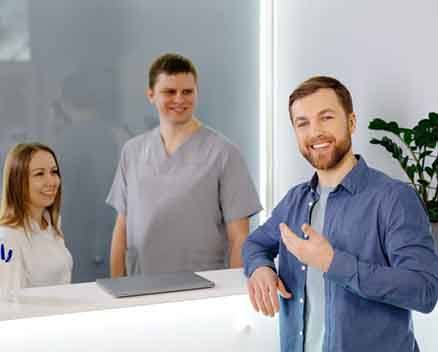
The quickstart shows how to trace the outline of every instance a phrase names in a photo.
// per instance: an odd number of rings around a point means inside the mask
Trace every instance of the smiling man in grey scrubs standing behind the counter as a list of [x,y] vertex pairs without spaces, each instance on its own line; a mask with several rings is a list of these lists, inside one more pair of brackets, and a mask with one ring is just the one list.
[[193,115],[195,67],[160,56],[146,96],[160,125],[122,150],[107,198],[118,213],[111,275],[242,266],[248,218],[261,205],[238,148]]

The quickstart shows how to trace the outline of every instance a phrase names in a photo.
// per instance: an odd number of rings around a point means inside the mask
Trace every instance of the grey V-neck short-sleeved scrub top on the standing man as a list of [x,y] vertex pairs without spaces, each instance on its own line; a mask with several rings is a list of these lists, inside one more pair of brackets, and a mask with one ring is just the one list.
[[226,224],[262,209],[238,148],[204,126],[170,156],[159,127],[129,140],[107,203],[126,218],[128,275],[222,269]]

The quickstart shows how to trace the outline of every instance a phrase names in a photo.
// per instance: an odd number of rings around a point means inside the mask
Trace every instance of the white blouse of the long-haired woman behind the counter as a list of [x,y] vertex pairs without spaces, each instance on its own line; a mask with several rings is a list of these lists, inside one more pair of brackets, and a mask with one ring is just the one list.
[[[23,229],[1,225],[0,250],[1,245],[0,289],[70,283],[73,259],[64,239],[56,235],[50,223],[44,230],[37,223],[31,223],[29,235]],[[6,262],[9,250],[12,257]]]

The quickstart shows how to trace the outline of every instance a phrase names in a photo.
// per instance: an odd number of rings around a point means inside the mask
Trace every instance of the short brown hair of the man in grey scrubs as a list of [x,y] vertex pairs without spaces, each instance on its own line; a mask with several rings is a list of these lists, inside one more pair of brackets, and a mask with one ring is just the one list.
[[161,73],[176,75],[178,73],[191,73],[195,82],[198,81],[198,74],[195,65],[186,57],[167,53],[157,57],[149,68],[149,88],[153,89],[157,78]]

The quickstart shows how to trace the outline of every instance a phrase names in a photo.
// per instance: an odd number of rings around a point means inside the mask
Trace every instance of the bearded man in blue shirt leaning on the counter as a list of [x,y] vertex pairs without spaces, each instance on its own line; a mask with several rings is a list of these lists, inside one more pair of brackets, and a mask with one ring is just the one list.
[[289,113],[316,172],[243,246],[254,308],[280,312],[282,352],[419,351],[411,310],[431,312],[438,295],[421,200],[353,154],[356,116],[338,80],[303,82]]

